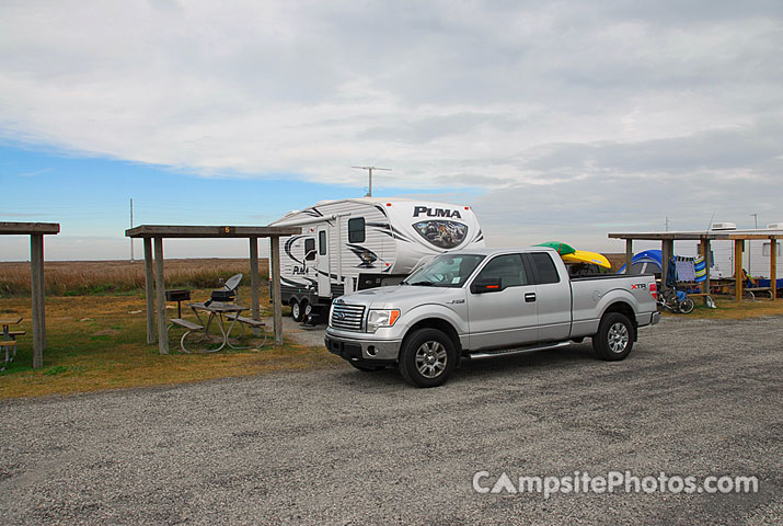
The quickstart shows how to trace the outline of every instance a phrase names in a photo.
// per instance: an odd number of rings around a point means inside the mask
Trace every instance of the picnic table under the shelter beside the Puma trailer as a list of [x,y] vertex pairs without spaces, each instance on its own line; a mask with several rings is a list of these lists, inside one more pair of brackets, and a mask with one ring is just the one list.
[[[245,347],[238,347],[231,343],[229,340],[229,336],[231,334],[231,331],[233,331],[234,327],[237,323],[240,324],[242,329],[242,333],[244,333],[244,325],[250,325],[254,329],[263,329],[264,323],[254,320],[252,318],[245,318],[241,316],[242,312],[245,310],[250,310],[250,307],[244,307],[243,305],[237,305],[237,304],[228,304],[223,301],[203,301],[203,302],[195,302],[195,304],[187,304],[188,307],[191,307],[191,310],[193,310],[193,313],[196,315],[196,319],[198,320],[198,323],[189,320],[185,320],[182,318],[173,318],[171,322],[175,325],[183,327],[187,329],[185,333],[182,335],[182,339],[180,340],[180,347],[182,347],[182,351],[185,353],[189,353],[191,351],[185,347],[185,339],[187,338],[188,334],[193,332],[204,332],[203,340],[208,340],[209,339],[209,328],[215,323],[218,329],[220,330],[220,345],[216,348],[211,350],[204,350],[201,351],[203,353],[217,353],[218,351],[222,350],[227,345],[231,348],[245,348]],[[207,321],[206,323],[204,322],[204,319],[201,318],[200,313],[206,312],[208,313]],[[227,327],[228,325],[228,327]],[[240,334],[241,336],[241,334]],[[264,332],[264,343],[266,343],[266,332]],[[263,344],[262,344],[263,345]]]

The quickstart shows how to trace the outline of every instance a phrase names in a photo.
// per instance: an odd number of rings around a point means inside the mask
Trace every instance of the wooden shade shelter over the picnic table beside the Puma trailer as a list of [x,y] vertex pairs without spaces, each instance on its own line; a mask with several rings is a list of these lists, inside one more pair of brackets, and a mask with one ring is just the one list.
[[[280,305],[280,237],[301,233],[298,227],[218,227],[180,225],[141,225],[125,231],[128,238],[141,238],[145,243],[145,277],[147,291],[147,343],[156,342],[156,302],[158,318],[158,348],[169,353],[165,321],[165,279],[163,278],[163,238],[246,238],[250,240],[250,277],[253,319],[261,317],[258,297],[258,238],[270,238],[269,270],[274,304],[275,343],[283,344],[283,312]],[[154,243],[154,272],[152,245]]]

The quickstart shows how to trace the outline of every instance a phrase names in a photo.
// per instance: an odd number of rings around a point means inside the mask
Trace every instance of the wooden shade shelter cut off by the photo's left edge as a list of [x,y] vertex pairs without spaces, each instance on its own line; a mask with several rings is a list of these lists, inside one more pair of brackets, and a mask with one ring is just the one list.
[[44,286],[44,236],[60,232],[58,222],[0,222],[0,235],[30,236],[30,275],[33,297],[33,368],[44,365],[46,309]]

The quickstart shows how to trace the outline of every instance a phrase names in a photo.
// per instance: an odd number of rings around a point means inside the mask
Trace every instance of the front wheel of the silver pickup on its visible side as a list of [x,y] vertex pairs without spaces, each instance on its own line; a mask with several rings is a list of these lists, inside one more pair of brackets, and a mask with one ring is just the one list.
[[449,336],[437,329],[419,329],[405,339],[400,352],[400,374],[416,387],[446,382],[457,365],[457,351]]

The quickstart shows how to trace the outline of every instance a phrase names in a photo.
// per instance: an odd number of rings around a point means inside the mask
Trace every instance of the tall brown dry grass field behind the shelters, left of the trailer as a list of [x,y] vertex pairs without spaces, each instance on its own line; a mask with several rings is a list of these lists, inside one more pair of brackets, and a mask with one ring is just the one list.
[[[258,272],[266,279],[268,260],[258,261]],[[249,260],[198,259],[166,260],[166,287],[216,287],[218,278],[237,273],[250,281]],[[143,289],[145,263],[136,261],[47,261],[44,264],[46,294],[57,296],[117,293]],[[30,263],[0,262],[0,296],[30,294]]]

